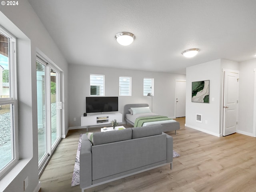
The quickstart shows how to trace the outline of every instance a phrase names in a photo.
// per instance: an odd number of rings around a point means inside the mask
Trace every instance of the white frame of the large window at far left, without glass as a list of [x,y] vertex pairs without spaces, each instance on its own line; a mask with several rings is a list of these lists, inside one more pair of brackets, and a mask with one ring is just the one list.
[[0,98],[0,105],[11,104],[10,108],[10,123],[12,128],[12,156],[13,160],[10,161],[2,170],[0,170],[0,179],[2,176],[10,170],[16,162],[18,162],[18,102],[17,102],[17,72],[16,72],[16,38],[12,36],[9,32],[4,30],[0,26],[0,31],[6,37],[9,38],[9,88],[10,88],[10,97],[9,98]]

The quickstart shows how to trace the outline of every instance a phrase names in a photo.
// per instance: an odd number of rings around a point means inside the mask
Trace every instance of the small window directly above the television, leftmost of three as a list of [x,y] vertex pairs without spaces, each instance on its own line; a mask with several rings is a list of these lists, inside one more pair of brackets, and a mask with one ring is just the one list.
[[104,75],[90,74],[90,95],[104,96]]

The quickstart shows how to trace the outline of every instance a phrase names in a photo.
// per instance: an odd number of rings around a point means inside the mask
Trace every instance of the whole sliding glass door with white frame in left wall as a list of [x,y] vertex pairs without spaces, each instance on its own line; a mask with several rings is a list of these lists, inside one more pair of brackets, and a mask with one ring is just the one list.
[[36,80],[40,169],[60,141],[60,72],[37,58]]

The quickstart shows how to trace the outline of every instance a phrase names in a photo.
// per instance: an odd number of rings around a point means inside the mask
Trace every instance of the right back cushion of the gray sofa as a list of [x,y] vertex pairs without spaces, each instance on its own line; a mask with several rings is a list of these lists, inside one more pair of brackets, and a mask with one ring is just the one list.
[[162,134],[162,125],[149,125],[144,127],[134,127],[132,128],[132,138],[141,138],[141,137],[148,137],[153,135],[160,135]]

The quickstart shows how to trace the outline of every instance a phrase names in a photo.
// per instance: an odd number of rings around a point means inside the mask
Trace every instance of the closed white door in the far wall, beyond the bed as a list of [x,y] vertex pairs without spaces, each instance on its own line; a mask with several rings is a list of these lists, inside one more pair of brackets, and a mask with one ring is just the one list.
[[175,81],[175,117],[186,116],[186,81]]

